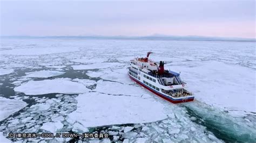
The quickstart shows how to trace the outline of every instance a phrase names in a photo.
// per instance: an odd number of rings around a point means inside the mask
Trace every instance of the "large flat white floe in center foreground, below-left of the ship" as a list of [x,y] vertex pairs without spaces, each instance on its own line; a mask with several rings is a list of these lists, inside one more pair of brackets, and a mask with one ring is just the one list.
[[98,92],[80,94],[76,99],[77,110],[70,113],[69,118],[85,127],[149,123],[167,118],[164,106],[152,99]]

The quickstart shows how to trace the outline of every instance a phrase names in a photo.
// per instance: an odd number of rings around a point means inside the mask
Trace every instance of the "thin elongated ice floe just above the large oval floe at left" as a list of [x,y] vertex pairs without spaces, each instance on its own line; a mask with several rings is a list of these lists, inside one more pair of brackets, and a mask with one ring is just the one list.
[[65,72],[54,71],[54,70],[41,70],[41,71],[33,71],[25,74],[26,74],[25,77],[48,78],[48,77],[65,74]]

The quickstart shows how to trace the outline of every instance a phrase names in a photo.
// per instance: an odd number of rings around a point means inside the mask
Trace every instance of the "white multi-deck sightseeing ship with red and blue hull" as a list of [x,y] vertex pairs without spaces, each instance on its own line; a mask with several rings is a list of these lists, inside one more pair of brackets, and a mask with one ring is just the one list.
[[164,62],[162,61],[158,66],[156,62],[149,60],[151,53],[148,52],[146,58],[131,60],[130,67],[127,68],[130,78],[171,103],[193,101],[194,96],[184,89],[187,85],[181,81],[180,74],[171,70],[164,70]]

